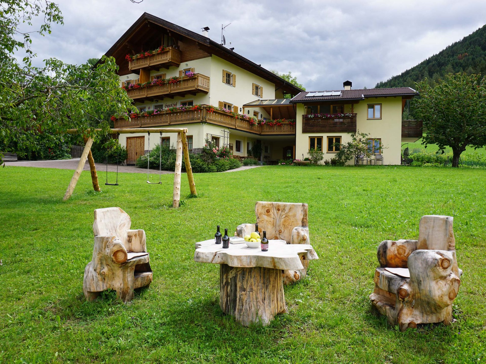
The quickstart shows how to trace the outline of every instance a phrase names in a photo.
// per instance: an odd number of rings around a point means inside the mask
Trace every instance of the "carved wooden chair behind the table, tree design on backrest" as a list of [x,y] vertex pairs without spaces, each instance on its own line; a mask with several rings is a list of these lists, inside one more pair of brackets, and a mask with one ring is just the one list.
[[[311,244],[307,203],[264,202],[255,204],[258,230],[267,232],[267,238],[285,240],[287,244]],[[254,224],[242,224],[236,228],[235,235],[244,237],[255,231]],[[283,271],[283,282],[289,284],[307,275],[308,262],[303,260],[304,269]]]

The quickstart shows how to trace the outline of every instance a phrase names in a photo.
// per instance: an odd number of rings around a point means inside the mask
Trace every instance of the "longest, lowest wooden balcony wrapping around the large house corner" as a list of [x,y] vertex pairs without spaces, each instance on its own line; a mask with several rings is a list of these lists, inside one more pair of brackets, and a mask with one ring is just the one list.
[[295,124],[251,126],[248,119],[241,116],[235,118],[233,115],[220,110],[210,112],[208,107],[208,105],[202,105],[202,110],[164,111],[161,114],[139,116],[130,120],[120,118],[115,120],[115,128],[147,128],[203,122],[259,135],[295,135]]

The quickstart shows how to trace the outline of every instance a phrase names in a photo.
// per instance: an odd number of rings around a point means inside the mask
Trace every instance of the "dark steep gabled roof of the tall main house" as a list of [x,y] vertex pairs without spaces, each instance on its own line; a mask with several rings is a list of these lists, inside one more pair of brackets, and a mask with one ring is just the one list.
[[247,71],[255,73],[260,77],[272,83],[275,83],[277,87],[282,88],[286,92],[296,94],[302,91],[300,87],[297,87],[292,83],[289,83],[288,81],[282,79],[281,77],[278,77],[276,74],[270,72],[268,69],[265,69],[260,65],[257,65],[256,63],[250,61],[249,59],[243,57],[242,55],[236,53],[235,51],[223,47],[222,45],[214,42],[208,37],[199,33],[192,32],[186,28],[180,27],[174,23],[171,23],[167,20],[161,19],[159,17],[156,17],[148,13],[143,13],[135,21],[135,23],[133,23],[133,25],[125,33],[123,33],[120,39],[118,39],[115,42],[115,44],[105,53],[105,55],[106,56],[113,55],[113,53],[115,53],[121,46],[123,46],[123,44],[129,38],[129,36],[135,31],[137,31],[137,29],[145,22],[152,22],[174,33],[178,33],[187,38],[190,38],[196,41],[201,46],[201,48],[204,48],[206,51],[208,51],[208,53],[215,54],[218,57],[226,59],[228,62],[235,63],[235,61],[237,61],[238,66],[241,66],[243,69],[246,69]]

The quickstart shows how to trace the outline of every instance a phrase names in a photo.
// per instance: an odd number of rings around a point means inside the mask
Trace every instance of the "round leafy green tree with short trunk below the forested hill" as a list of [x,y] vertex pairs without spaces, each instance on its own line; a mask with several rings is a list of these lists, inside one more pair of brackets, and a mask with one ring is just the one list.
[[420,98],[416,115],[427,131],[422,144],[452,149],[452,166],[467,146],[486,145],[486,80],[466,72],[449,74],[432,86],[428,80],[417,83]]

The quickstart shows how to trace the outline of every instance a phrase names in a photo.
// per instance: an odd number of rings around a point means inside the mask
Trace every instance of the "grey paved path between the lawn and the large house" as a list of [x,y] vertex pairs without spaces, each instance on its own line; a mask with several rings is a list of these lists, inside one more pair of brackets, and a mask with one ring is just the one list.
[[[18,161],[18,162],[5,162],[7,166],[19,166],[19,167],[38,167],[38,168],[57,168],[57,169],[76,169],[79,163],[79,158],[63,159],[58,161]],[[227,170],[226,172],[236,172],[245,169],[260,167],[260,165],[244,165],[243,167]],[[86,161],[83,170],[89,170],[89,163]],[[108,172],[116,172],[116,165],[108,165]],[[106,165],[104,163],[96,163],[96,171],[99,173],[106,171]],[[119,165],[119,172],[128,173],[147,173],[145,168],[139,168],[133,165]],[[150,173],[157,174],[158,170],[151,169]],[[171,171],[162,171],[162,174],[173,174]]]

